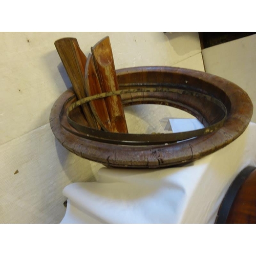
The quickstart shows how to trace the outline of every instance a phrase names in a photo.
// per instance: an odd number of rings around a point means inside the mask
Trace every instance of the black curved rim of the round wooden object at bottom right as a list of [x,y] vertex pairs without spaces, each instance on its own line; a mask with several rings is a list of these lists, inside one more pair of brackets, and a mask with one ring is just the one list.
[[225,224],[227,222],[227,218],[230,213],[232,204],[236,199],[241,186],[243,185],[245,180],[249,177],[249,175],[253,172],[253,170],[255,170],[254,166],[247,166],[239,173],[239,175],[231,183],[220,205],[218,215],[215,220],[216,224]]

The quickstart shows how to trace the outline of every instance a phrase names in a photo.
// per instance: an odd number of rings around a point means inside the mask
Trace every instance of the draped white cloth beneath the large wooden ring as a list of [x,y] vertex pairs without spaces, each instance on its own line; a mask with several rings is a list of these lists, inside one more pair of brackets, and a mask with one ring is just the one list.
[[101,168],[96,182],[73,183],[61,223],[214,223],[233,179],[256,166],[256,124],[221,150],[182,167]]

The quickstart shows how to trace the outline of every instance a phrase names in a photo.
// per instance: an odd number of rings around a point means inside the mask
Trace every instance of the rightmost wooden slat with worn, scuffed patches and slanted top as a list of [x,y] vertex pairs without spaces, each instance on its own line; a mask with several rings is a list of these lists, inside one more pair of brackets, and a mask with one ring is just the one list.
[[[110,38],[103,38],[91,50],[102,92],[118,90]],[[112,126],[118,133],[128,133],[121,97],[106,97],[105,103]]]

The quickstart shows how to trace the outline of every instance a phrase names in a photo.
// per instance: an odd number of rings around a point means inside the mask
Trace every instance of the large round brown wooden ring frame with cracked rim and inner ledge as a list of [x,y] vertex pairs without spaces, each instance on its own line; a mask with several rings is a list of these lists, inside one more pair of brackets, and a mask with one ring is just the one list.
[[[195,161],[228,145],[246,129],[252,116],[252,102],[245,91],[236,84],[204,72],[172,67],[139,67],[117,70],[120,89],[130,89],[155,84],[181,87],[205,93],[221,101],[227,117],[215,132],[180,143],[160,145],[123,145],[84,138],[67,120],[67,109],[75,102],[72,90],[67,90],[54,103],[50,124],[58,141],[74,154],[113,167],[159,168]],[[165,104],[175,106],[196,116],[206,127],[215,122],[219,110],[209,101],[185,94],[135,93],[122,97],[124,106],[133,104]],[[83,124],[79,108],[72,119]]]

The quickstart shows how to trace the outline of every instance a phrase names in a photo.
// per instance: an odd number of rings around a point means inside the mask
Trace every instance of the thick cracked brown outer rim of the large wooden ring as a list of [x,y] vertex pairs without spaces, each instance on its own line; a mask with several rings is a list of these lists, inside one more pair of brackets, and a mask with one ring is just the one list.
[[[117,77],[121,89],[129,88],[130,83],[134,82],[186,84],[187,88],[196,88],[198,91],[220,99],[226,105],[228,116],[223,127],[217,132],[188,141],[157,146],[114,145],[81,138],[61,127],[59,113],[63,104],[70,97],[70,94],[63,95],[63,98],[56,101],[51,112],[53,133],[60,143],[65,142],[64,146],[68,150],[83,158],[105,165],[157,168],[197,160],[219,150],[239,137],[249,124],[252,115],[252,103],[246,92],[230,81],[207,73],[170,67],[140,67],[118,70]],[[182,109],[183,106],[179,105],[181,96],[177,98],[177,107]],[[173,103],[175,102],[168,102],[169,105],[173,105]],[[188,100],[184,104],[186,109],[189,109],[189,106],[194,108],[200,103],[198,103],[198,99],[196,101],[194,99],[193,101]],[[207,108],[201,108],[202,105],[198,111],[207,120],[207,113],[204,113]],[[212,114],[208,113],[208,115]]]

